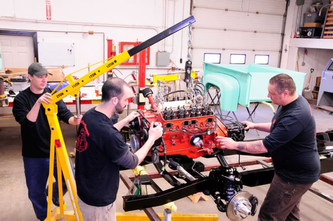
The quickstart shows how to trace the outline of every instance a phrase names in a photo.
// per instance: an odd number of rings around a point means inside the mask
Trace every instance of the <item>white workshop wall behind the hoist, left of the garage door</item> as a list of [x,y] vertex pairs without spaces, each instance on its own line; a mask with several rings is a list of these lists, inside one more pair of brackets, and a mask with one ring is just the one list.
[[[187,18],[189,2],[190,0],[57,0],[51,1],[51,21],[47,21],[44,0],[7,0],[0,2],[0,29],[37,31],[38,42],[73,42],[75,66],[65,69],[66,74],[69,74],[86,67],[88,63],[105,59],[106,39],[113,39],[119,53],[118,42],[145,41]],[[88,31],[93,31],[94,34],[87,35]],[[155,54],[158,50],[171,52],[170,59],[179,68],[184,68],[184,63],[179,64],[179,60],[182,58],[184,61],[186,58],[187,31],[185,28],[151,46],[147,77],[150,73],[166,72],[171,67],[156,67]],[[48,56],[57,59],[53,54]],[[119,65],[116,68],[121,70],[124,78],[136,67]],[[86,72],[84,70],[76,75],[81,76]]]

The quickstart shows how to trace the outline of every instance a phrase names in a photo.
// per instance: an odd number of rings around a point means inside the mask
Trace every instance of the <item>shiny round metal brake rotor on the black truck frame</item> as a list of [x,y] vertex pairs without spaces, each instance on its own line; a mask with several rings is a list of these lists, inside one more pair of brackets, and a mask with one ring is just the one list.
[[253,195],[241,191],[232,196],[226,206],[226,215],[232,221],[240,221],[251,215],[252,205],[250,200]]

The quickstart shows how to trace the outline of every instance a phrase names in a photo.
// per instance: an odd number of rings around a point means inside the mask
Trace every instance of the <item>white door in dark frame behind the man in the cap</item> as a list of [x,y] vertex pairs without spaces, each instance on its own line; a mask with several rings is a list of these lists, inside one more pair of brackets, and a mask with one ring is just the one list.
[[32,36],[0,34],[4,68],[28,68],[34,61]]

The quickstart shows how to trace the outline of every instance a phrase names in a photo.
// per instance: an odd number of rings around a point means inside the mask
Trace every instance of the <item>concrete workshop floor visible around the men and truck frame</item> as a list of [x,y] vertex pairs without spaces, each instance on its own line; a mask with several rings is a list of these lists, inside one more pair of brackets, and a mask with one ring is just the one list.
[[[253,106],[250,106],[252,109]],[[322,132],[327,128],[333,127],[333,116],[328,115],[326,112],[317,111],[313,108],[313,113],[316,119],[317,132]],[[239,121],[244,121],[247,118],[246,109],[243,106],[239,107],[236,112],[236,116]],[[269,122],[272,118],[272,112],[270,108],[264,104],[260,104],[254,121]],[[75,127],[71,125],[62,124],[62,131],[66,143],[68,152],[72,151],[75,145],[76,132]],[[250,131],[246,134],[246,139],[258,139],[263,138],[266,135],[264,132],[259,132],[259,136],[255,131]],[[0,220],[36,220],[32,205],[28,199],[28,191],[25,184],[23,162],[21,156],[21,135],[19,124],[13,117],[0,117]],[[253,156],[241,156],[241,161],[258,159],[259,157]],[[218,164],[215,158],[198,158],[205,164]],[[228,162],[236,162],[238,156],[226,156]],[[246,167],[247,170],[258,168],[258,165]],[[237,170],[242,171],[241,168]],[[152,165],[148,165],[148,172],[155,172]],[[124,171],[127,175],[131,175],[130,171]],[[333,173],[325,174],[333,178]],[[162,189],[171,188],[163,179],[154,180]],[[313,185],[315,188],[333,196],[332,186],[318,181]],[[263,185],[258,187],[244,187],[244,190],[256,195],[259,199],[259,208],[264,200],[265,194],[269,185]],[[148,189],[148,193],[154,193]],[[116,200],[116,208],[118,212],[122,209],[122,197],[126,195],[127,188],[120,181],[120,188]],[[65,195],[65,201],[68,204],[68,208],[71,209],[68,194]],[[201,200],[194,204],[188,198],[183,198],[175,201],[178,210],[176,213],[216,213],[219,220],[227,220],[225,213],[219,212],[212,198],[208,201]],[[158,206],[154,208],[156,212],[163,213],[164,208]],[[307,192],[301,201],[301,219],[302,220],[331,220],[331,212],[333,210],[333,204],[320,198],[319,196]],[[142,212],[142,211],[134,211]],[[174,212],[175,213],[175,212]],[[247,220],[257,220],[257,214],[253,217],[247,218]]]

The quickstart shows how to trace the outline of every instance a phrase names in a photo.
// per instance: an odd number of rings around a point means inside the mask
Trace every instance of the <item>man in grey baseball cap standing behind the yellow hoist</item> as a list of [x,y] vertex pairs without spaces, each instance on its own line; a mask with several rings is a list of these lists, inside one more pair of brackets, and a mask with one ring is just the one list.
[[[28,68],[30,87],[15,96],[13,115],[21,125],[22,156],[28,196],[36,217],[44,220],[47,214],[46,183],[49,178],[51,130],[41,102],[51,103],[51,89],[46,87],[47,72],[40,63],[32,63]],[[58,118],[67,124],[79,125],[82,115],[73,116],[63,100],[58,105]],[[59,206],[57,160],[54,160],[52,201]],[[67,192],[63,181],[63,193]]]

